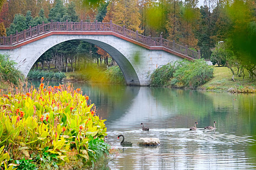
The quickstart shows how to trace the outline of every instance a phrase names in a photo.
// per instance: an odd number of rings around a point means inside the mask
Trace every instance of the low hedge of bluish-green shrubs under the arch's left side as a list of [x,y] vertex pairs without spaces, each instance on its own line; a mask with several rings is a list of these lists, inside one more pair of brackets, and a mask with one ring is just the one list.
[[62,80],[66,77],[64,72],[53,72],[44,70],[30,70],[28,75],[32,80],[40,80],[43,77],[45,80]]

